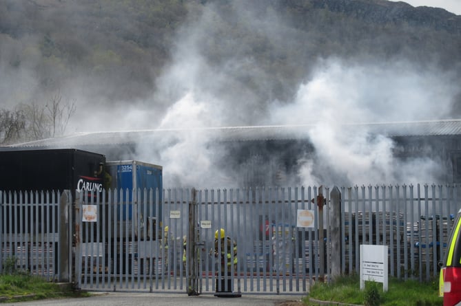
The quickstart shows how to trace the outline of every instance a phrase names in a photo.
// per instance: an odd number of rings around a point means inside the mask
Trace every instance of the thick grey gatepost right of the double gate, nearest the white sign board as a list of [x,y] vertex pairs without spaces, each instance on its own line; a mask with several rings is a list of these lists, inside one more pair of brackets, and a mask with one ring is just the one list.
[[334,186],[330,193],[331,278],[341,275],[341,192]]

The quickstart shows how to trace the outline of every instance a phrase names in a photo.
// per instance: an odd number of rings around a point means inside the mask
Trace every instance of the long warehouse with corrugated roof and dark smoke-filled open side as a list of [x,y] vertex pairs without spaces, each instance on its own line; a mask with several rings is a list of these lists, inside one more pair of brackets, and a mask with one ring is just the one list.
[[[143,160],[162,164],[165,149],[188,150],[195,146],[198,150],[203,150],[203,155],[208,154],[209,159],[214,159],[215,166],[221,168],[229,177],[229,184],[223,183],[221,187],[300,186],[305,182],[294,179],[292,174],[300,166],[300,160],[309,159],[314,161],[312,171],[318,173],[322,181],[320,184],[331,186],[362,184],[362,182],[347,182],[339,176],[336,180],[326,179],[325,175],[322,177],[322,173],[334,169],[316,162],[323,154],[322,149],[318,149],[311,140],[313,133],[316,133],[314,130],[316,127],[316,124],[304,124],[188,130],[94,131],[15,144],[0,150],[74,148],[102,153],[107,160]],[[375,142],[378,138],[390,140],[393,142],[391,154],[400,162],[412,160],[424,162],[424,159],[427,159],[438,165],[437,171],[427,175],[431,177],[430,181],[424,177],[426,181],[416,183],[461,182],[461,120],[341,124],[339,129],[341,133],[348,135],[366,133],[362,136],[367,138],[367,142]],[[187,143],[189,146],[181,146],[181,143]],[[366,155],[367,147],[362,150]],[[168,175],[167,168],[165,168],[165,175]],[[365,180],[365,183],[409,184],[410,182]],[[211,187],[210,185],[199,187]]]

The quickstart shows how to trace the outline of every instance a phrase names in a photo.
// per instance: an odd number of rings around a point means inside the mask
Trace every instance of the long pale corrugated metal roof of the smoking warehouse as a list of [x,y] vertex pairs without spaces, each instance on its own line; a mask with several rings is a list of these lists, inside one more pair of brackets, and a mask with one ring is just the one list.
[[[290,140],[307,139],[317,124],[277,125],[256,127],[216,127],[205,129],[152,129],[139,131],[76,133],[57,138],[14,144],[9,147],[75,146],[92,144],[130,144],[158,142],[175,138],[204,138],[211,140]],[[341,131],[368,131],[372,134],[397,136],[461,135],[461,120],[417,122],[376,122],[341,124]]]

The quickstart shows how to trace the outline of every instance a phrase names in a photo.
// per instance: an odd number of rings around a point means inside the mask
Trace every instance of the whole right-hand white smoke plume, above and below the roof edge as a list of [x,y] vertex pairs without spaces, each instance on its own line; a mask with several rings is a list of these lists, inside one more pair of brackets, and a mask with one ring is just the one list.
[[[316,166],[301,162],[298,174],[305,184],[433,182],[440,171],[435,161],[396,160],[391,138],[367,131],[365,123],[447,118],[453,83],[449,75],[440,76],[407,63],[347,65],[331,59],[300,85],[292,103],[275,105],[272,122],[313,124],[307,134]],[[320,177],[314,168],[323,169]]]

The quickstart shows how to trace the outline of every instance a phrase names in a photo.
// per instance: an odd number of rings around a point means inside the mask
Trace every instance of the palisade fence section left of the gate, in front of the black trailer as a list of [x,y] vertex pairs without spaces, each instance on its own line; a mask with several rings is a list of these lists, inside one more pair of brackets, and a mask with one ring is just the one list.
[[2,273],[30,272],[50,281],[68,280],[72,270],[68,191],[0,191],[0,259]]

